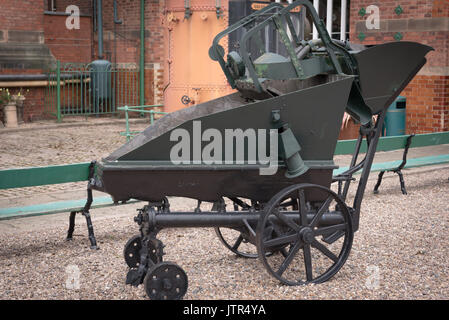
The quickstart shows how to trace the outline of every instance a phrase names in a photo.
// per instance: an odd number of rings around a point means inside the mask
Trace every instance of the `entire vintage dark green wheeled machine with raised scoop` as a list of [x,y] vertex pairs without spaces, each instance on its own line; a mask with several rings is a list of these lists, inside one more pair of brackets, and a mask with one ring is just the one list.
[[[304,40],[305,19],[320,39]],[[225,59],[219,42],[238,30],[243,36]],[[125,246],[127,283],[143,283],[151,299],[182,298],[187,275],[163,261],[157,234],[187,227],[215,228],[228,249],[258,257],[284,284],[329,280],[359,228],[386,110],[431,50],[412,42],[364,47],[332,40],[302,0],[272,3],[218,34],[209,55],[238,92],[159,119],[92,169],[90,189],[115,201],[148,202],[135,218],[140,233]],[[350,168],[333,176],[345,111],[360,123],[360,135]],[[359,160],[364,139],[368,150]],[[267,161],[267,154],[274,157]],[[168,196],[197,199],[198,207],[173,212]],[[202,211],[201,202],[212,209]]]

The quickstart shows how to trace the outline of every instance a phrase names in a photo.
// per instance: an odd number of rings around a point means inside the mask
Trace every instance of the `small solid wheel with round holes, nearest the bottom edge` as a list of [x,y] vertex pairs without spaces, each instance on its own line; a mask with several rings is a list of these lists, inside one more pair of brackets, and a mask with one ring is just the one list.
[[152,266],[143,280],[151,300],[181,300],[187,292],[187,274],[172,262]]

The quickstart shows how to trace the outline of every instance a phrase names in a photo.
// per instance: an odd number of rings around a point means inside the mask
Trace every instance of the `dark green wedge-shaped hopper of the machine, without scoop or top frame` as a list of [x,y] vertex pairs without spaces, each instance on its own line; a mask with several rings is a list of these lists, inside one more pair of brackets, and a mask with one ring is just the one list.
[[[231,196],[268,201],[291,183],[330,185],[336,168],[333,152],[353,78],[334,75],[314,81],[322,84],[295,90],[298,81],[291,83],[291,93],[249,104],[236,93],[165,116],[103,159],[98,165],[101,188],[116,200],[155,201],[164,196],[186,196],[217,201]],[[170,141],[170,133],[175,128],[187,130],[192,137],[193,121],[198,120],[202,131],[214,128],[223,136],[226,129],[271,129],[276,126],[273,111],[279,111],[281,120],[290,124],[301,144],[301,156],[310,168],[306,174],[287,178],[282,162],[275,175],[267,176],[260,175],[258,165],[170,162],[170,150],[177,143]],[[310,127],[312,123],[315,128]],[[201,149],[206,144],[203,142]]]

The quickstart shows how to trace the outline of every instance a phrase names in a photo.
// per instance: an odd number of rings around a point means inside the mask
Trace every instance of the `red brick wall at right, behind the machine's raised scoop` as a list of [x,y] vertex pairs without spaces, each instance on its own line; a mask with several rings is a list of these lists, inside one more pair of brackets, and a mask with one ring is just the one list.
[[[380,30],[363,28],[367,16],[359,10],[369,5],[380,9]],[[400,5],[403,13],[394,9]],[[400,32],[402,41],[415,41],[435,49],[426,58],[427,63],[401,95],[407,98],[407,133],[425,133],[449,130],[449,1],[373,1],[352,0],[350,8],[350,39],[363,44],[396,41]],[[446,26],[445,26],[446,24]],[[363,32],[362,42],[358,35]]]

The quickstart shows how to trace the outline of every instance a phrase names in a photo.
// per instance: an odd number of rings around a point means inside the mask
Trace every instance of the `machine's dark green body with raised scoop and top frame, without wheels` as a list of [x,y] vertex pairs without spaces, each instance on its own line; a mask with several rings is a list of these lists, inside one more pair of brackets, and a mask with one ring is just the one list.
[[[290,28],[289,13],[299,5],[310,10],[320,41],[308,44],[293,37],[292,43],[287,44],[289,38],[279,21],[286,21]],[[218,201],[227,196],[262,202],[290,184],[308,182],[329,187],[343,112],[346,110],[362,124],[369,125],[372,116],[384,112],[424,65],[424,56],[432,49],[411,42],[371,48],[332,42],[310,7],[308,1],[296,1],[287,8],[272,4],[217,35],[209,54],[220,63],[229,83],[239,92],[158,120],[97,164],[93,187],[116,200],[156,201],[164,196],[186,196]],[[271,18],[256,24],[256,18],[266,13]],[[253,57],[253,62],[245,44],[273,20],[280,39],[291,46],[287,50],[289,57],[280,59],[276,54],[262,53],[258,59]],[[219,41],[242,26],[249,26],[250,30],[241,41],[240,54],[230,53],[225,62]],[[316,46],[322,48],[315,50]],[[293,52],[299,52],[298,61],[292,59]],[[277,122],[273,121],[274,113],[280,116]],[[177,141],[171,141],[170,135],[175,129],[185,129],[195,137],[198,133],[194,132],[194,121],[200,121],[202,132],[216,129],[222,135],[226,129],[270,130],[288,124],[300,146],[300,161],[304,160],[309,170],[287,177],[287,159],[282,156],[278,159],[279,169],[272,176],[260,175],[260,166],[248,162],[210,165],[199,161],[175,165],[170,161],[170,150]],[[202,150],[206,144],[202,141],[197,148]],[[194,148],[190,150],[192,155]],[[281,145],[280,154],[282,148],[289,146]]]

